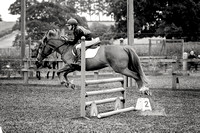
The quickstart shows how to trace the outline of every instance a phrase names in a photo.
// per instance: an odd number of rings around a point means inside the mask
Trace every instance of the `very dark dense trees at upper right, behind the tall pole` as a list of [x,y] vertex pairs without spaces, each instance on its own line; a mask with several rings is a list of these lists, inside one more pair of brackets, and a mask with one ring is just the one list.
[[[127,31],[127,1],[107,0],[109,14],[114,14],[118,32]],[[198,40],[200,33],[200,1],[198,0],[134,0],[134,32],[136,36],[160,35]],[[141,33],[141,34],[139,34]]]

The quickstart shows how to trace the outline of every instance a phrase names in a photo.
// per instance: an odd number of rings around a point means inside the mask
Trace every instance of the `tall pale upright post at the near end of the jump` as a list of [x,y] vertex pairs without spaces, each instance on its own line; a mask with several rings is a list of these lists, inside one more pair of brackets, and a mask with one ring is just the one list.
[[85,37],[81,37],[81,117],[85,117]]

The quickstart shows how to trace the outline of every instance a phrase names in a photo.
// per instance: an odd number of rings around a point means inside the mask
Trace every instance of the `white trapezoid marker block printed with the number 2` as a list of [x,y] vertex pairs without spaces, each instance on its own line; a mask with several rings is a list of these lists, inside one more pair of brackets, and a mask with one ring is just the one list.
[[138,98],[135,108],[141,111],[152,110],[151,104],[148,98]]

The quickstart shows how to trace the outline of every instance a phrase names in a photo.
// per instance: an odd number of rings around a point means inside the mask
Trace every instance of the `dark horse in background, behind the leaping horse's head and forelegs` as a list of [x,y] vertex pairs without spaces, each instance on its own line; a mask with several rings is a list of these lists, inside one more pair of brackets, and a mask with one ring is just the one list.
[[[39,45],[36,45],[34,48],[31,48],[31,58],[36,58],[39,52],[39,48],[41,47],[41,43]],[[53,53],[52,58],[55,58],[55,54]],[[43,61],[40,68],[48,68],[48,69],[56,69],[58,68],[58,62],[57,61]],[[47,79],[49,79],[49,73],[47,72]],[[38,80],[41,79],[41,73],[40,71],[36,71],[36,77]],[[55,72],[52,73],[52,79],[55,77]]]

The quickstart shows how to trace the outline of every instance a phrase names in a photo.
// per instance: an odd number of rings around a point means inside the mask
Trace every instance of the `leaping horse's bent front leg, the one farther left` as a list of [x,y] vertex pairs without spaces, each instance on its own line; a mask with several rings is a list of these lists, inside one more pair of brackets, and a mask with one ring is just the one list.
[[71,83],[69,82],[69,80],[67,78],[67,74],[70,72],[73,72],[73,71],[75,71],[75,69],[73,67],[71,67],[70,65],[65,65],[64,67],[59,69],[57,72],[57,75],[60,80],[60,83],[65,84],[66,87],[69,87],[71,85]]

